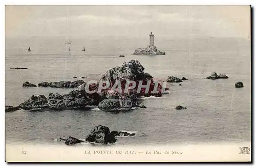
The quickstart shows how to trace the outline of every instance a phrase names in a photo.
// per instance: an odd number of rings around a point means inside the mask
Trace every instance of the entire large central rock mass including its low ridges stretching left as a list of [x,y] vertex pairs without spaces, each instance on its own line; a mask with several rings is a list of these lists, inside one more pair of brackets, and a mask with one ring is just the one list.
[[[109,81],[110,87],[98,92],[99,82],[90,84],[89,90],[95,91],[94,93],[87,93],[84,89],[86,82],[83,80],[77,80],[74,82],[60,81],[60,82],[42,82],[38,84],[40,87],[54,87],[54,88],[74,88],[78,87],[78,90],[73,90],[68,94],[60,95],[58,93],[50,93],[48,98],[44,95],[32,95],[27,101],[18,105],[17,108],[25,110],[33,109],[65,109],[65,108],[84,108],[88,106],[98,106],[102,110],[112,110],[115,108],[133,108],[140,107],[145,108],[141,104],[139,99],[136,97],[141,96],[161,96],[162,91],[168,90],[162,88],[160,83],[155,83],[153,77],[144,72],[144,67],[137,61],[131,60],[124,62],[121,67],[114,67],[103,74],[99,81]],[[115,86],[115,82],[120,81],[120,89],[112,90]],[[126,86],[130,86],[129,82],[134,81],[136,86],[133,89],[127,90]],[[138,90],[139,82],[142,85],[147,85],[148,81],[148,92],[146,88]],[[156,90],[155,89],[156,85]],[[126,92],[125,92],[126,90]],[[157,91],[153,93],[154,91]],[[6,109],[15,110],[16,107],[9,107]]]

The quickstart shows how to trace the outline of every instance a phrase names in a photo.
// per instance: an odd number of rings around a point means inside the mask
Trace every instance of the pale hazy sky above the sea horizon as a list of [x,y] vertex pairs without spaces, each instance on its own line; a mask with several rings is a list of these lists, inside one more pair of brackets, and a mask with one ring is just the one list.
[[250,37],[250,6],[6,6],[6,37]]

